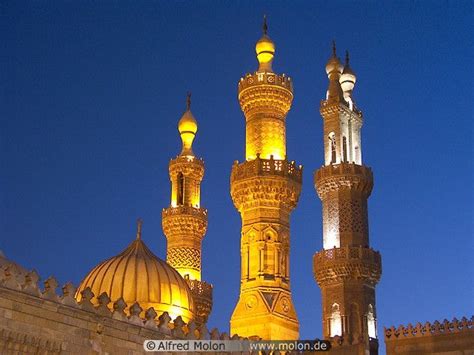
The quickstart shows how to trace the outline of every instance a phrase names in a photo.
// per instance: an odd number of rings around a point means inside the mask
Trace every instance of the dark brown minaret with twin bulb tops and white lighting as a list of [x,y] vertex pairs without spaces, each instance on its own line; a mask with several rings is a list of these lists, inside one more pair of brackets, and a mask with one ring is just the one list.
[[380,253],[369,247],[367,199],[373,177],[362,164],[362,112],[352,96],[356,76],[348,53],[345,66],[339,62],[335,44],[326,73],[329,88],[320,106],[325,163],[314,174],[323,205],[324,250],[313,260],[323,335],[341,336],[353,354],[377,354],[375,285],[382,270]]

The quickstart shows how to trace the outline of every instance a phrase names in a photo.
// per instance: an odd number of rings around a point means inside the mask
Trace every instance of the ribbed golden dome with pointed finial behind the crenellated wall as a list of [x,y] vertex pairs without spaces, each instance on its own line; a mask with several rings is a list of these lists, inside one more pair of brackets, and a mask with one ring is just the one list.
[[[139,224],[137,238],[123,252],[89,272],[76,298],[80,301],[81,291],[90,287],[96,297],[107,292],[112,302],[122,297],[128,306],[138,302],[144,311],[153,307],[158,315],[168,312],[187,323],[194,318],[191,291],[175,269],[148,249],[140,229]],[[96,298],[92,302],[97,304]]]

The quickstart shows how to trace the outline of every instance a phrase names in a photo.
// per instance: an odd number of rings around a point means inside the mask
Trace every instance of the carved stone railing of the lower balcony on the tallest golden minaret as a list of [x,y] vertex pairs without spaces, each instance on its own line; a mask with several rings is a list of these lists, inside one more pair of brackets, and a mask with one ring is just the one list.
[[262,159],[259,155],[254,160],[240,163],[234,162],[230,177],[231,183],[255,176],[282,176],[301,183],[303,167],[297,166],[294,161]]

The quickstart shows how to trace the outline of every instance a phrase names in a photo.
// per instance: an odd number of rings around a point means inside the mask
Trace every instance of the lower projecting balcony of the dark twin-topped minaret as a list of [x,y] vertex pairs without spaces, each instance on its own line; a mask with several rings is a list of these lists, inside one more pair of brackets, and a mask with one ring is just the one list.
[[382,258],[378,251],[361,246],[321,250],[314,254],[313,271],[321,287],[348,280],[375,285],[382,274]]

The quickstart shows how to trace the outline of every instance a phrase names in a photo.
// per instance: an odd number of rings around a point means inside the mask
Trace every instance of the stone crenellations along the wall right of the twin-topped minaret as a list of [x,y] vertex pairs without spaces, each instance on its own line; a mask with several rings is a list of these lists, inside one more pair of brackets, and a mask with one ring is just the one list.
[[409,323],[407,326],[400,325],[398,328],[391,326],[384,327],[385,341],[399,340],[406,338],[417,338],[426,336],[436,336],[440,334],[452,334],[459,332],[473,332],[474,336],[474,316],[471,319],[462,317],[461,320],[454,318],[451,322],[445,319],[443,322],[435,321],[425,324],[417,323],[413,326]]

